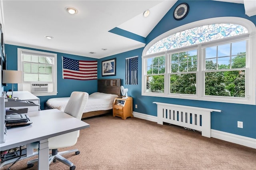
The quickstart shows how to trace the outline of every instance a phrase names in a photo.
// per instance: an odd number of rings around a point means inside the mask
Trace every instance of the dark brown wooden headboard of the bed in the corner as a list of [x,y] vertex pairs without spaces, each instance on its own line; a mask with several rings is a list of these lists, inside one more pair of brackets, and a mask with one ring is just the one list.
[[121,79],[98,79],[98,92],[121,95]]

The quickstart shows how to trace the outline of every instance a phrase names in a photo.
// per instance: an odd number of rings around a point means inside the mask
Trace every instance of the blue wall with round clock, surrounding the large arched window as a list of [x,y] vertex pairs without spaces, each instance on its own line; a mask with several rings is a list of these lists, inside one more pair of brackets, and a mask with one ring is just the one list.
[[[190,6],[188,16],[183,20],[176,21],[173,18],[174,8],[182,3],[186,2]],[[203,20],[207,18],[224,17],[224,16],[235,16],[240,18],[246,18],[256,24],[256,16],[248,17],[245,15],[244,5],[218,2],[218,1],[178,1],[162,18],[157,26],[150,32],[146,37],[146,42],[149,43],[157,36],[172,30],[176,27],[188,24],[190,22]],[[128,88],[128,96],[134,98],[133,108],[135,112],[144,113],[148,115],[157,116],[157,106],[152,102],[171,103],[177,105],[187,105],[194,107],[206,107],[211,109],[220,109],[222,113],[212,113],[212,129],[220,130],[228,133],[238,134],[241,136],[247,136],[250,138],[256,138],[256,106],[255,105],[240,105],[232,103],[219,103],[219,102],[208,102],[208,101],[195,101],[185,99],[172,99],[163,97],[147,97],[141,95],[141,63],[142,63],[142,51],[144,48],[112,55],[99,60],[101,64],[102,60],[111,59],[116,57],[116,76],[109,78],[120,78],[122,79],[122,85]],[[255,49],[254,49],[255,50]],[[125,85],[125,58],[138,55],[138,85]],[[98,72],[98,78],[101,77],[101,73]],[[138,105],[138,109],[135,109],[134,105]],[[243,122],[243,128],[237,127],[237,121]]]

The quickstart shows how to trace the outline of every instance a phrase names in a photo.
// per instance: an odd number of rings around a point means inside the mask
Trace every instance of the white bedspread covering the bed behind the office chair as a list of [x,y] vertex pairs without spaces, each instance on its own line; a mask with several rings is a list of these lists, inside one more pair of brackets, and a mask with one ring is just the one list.
[[[102,111],[109,110],[113,107],[114,99],[118,97],[118,95],[106,94],[95,92],[89,95],[86,107],[84,109],[84,113],[91,111]],[[64,111],[69,97],[58,97],[48,99],[46,103],[55,109],[59,109],[60,111]]]

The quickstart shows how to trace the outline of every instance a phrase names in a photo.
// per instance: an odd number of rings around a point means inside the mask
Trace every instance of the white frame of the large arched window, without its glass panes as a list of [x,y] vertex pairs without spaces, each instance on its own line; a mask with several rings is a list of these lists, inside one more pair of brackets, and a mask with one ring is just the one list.
[[[248,34],[242,34],[239,36],[233,36],[229,38],[223,38],[220,40],[213,40],[211,42],[206,42],[197,45],[191,45],[188,47],[181,47],[178,49],[172,49],[164,52],[154,53],[146,55],[147,50],[154,45],[154,43],[162,40],[163,38],[175,34],[176,32],[181,32],[183,30],[187,30],[190,28],[195,28],[202,25],[214,24],[214,23],[230,23],[230,24],[239,24],[248,29]],[[212,46],[212,45],[220,45],[229,42],[247,40],[246,45],[246,97],[223,97],[223,96],[207,96],[204,95],[204,55],[203,48]],[[247,104],[247,105],[256,105],[256,27],[255,25],[244,18],[238,17],[220,17],[220,18],[210,18],[206,20],[200,20],[197,22],[192,22],[186,24],[184,26],[180,26],[178,28],[174,28],[170,30],[154,40],[152,40],[142,52],[142,95],[143,96],[154,96],[154,97],[169,97],[169,98],[177,98],[177,99],[192,99],[192,100],[200,100],[200,101],[215,101],[215,102],[224,102],[224,103],[238,103],[238,104]],[[187,51],[189,49],[198,48],[198,71],[196,73],[196,95],[188,95],[188,94],[171,94],[169,93],[170,89],[170,53],[176,53],[179,51]],[[149,57],[156,57],[159,55],[166,55],[166,73],[165,73],[165,83],[164,83],[164,93],[154,93],[154,92],[146,92],[146,59]],[[228,70],[227,70],[228,71]]]

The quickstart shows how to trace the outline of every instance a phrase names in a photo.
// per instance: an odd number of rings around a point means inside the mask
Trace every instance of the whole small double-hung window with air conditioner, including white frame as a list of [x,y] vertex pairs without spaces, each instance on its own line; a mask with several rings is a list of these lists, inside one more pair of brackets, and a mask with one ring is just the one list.
[[[22,71],[22,84],[18,90],[34,95],[57,94],[57,55],[18,48],[18,70]],[[38,89],[33,90],[33,87]],[[40,90],[40,87],[44,87]],[[35,89],[35,88],[34,88]]]

